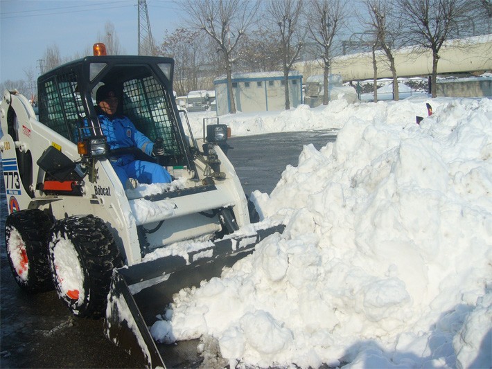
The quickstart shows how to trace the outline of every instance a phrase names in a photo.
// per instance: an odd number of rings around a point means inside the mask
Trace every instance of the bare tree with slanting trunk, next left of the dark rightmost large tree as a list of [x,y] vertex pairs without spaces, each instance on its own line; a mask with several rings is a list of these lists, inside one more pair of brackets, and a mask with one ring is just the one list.
[[385,52],[393,77],[393,99],[398,101],[398,75],[393,51],[399,46],[397,42],[402,29],[401,17],[396,17],[392,2],[387,0],[364,0],[364,5],[369,14],[366,24],[376,36],[374,47]]

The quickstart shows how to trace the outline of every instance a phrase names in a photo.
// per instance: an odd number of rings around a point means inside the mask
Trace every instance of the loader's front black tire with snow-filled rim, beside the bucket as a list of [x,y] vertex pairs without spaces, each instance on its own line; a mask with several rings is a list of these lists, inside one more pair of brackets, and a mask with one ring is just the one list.
[[87,215],[56,222],[49,262],[58,296],[74,315],[104,315],[112,271],[123,262],[102,219]]

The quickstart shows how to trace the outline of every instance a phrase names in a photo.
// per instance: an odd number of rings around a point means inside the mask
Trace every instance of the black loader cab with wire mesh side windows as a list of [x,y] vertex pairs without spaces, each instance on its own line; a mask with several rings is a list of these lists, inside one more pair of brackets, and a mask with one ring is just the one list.
[[163,139],[161,165],[195,171],[173,97],[173,70],[174,60],[166,57],[90,56],[64,64],[38,79],[39,121],[73,143],[102,136],[96,91],[112,84],[121,91],[118,113],[152,141]]

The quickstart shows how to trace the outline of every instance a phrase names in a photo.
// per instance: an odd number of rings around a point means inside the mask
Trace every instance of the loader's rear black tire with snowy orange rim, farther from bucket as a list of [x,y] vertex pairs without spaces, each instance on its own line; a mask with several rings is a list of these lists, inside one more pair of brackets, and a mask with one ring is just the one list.
[[38,209],[10,214],[5,223],[8,263],[17,285],[30,292],[53,289],[48,262],[48,215]]

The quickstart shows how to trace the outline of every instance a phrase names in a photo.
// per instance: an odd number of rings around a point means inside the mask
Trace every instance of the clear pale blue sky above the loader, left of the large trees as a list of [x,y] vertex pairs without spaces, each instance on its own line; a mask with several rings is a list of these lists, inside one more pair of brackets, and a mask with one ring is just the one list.
[[[147,0],[152,36],[162,41],[182,24],[180,0]],[[60,56],[82,54],[98,42],[107,21],[116,28],[121,47],[137,54],[137,0],[0,0],[0,81],[25,80],[25,70],[39,75],[37,60],[56,44]]]

